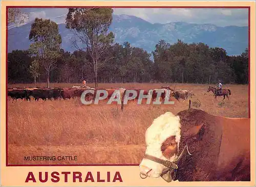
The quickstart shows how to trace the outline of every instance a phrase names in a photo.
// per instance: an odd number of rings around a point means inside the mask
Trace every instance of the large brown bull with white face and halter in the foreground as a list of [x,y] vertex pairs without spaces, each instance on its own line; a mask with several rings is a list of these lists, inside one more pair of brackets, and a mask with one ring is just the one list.
[[[249,118],[212,116],[195,109],[176,116],[167,112],[154,120],[145,138],[141,178],[250,181]],[[168,161],[168,166],[161,161]]]

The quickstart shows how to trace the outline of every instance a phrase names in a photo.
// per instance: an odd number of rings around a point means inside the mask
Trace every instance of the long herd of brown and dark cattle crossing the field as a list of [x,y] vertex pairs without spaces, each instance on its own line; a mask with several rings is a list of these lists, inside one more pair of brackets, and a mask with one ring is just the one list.
[[[112,94],[116,91],[119,90],[120,95],[123,96],[126,92],[125,88],[82,88],[82,87],[72,87],[72,88],[40,88],[40,87],[34,87],[34,88],[8,88],[8,96],[10,96],[13,100],[17,99],[25,99],[25,100],[31,100],[31,97],[34,98],[34,100],[57,100],[57,99],[70,99],[70,98],[75,98],[75,97],[81,97],[81,94],[84,92],[84,90],[94,90],[95,94],[97,90],[105,90],[108,93],[108,97],[110,98]],[[133,89],[135,92],[137,92],[137,96],[135,99],[138,99],[139,93],[141,89]],[[152,91],[152,99],[155,99],[157,97],[157,90],[164,90],[164,92],[161,94],[161,98],[164,99],[166,97],[167,90],[170,92],[170,96],[175,97],[177,100],[183,99],[187,100],[188,96],[190,95],[192,97],[192,93],[188,90],[179,90],[175,91],[170,87],[161,87],[159,89],[154,89],[154,90],[144,90],[143,95],[147,95]],[[90,94],[88,93],[86,95],[86,98],[89,99],[94,99],[95,94]],[[131,93],[130,93],[131,94]],[[102,96],[102,95],[100,95]],[[131,95],[129,95],[131,96]]]

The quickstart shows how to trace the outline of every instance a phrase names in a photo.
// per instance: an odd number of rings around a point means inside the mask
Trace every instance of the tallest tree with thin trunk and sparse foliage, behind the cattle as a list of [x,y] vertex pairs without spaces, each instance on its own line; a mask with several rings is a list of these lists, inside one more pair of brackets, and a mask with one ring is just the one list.
[[[98,82],[98,70],[107,59],[102,54],[114,42],[114,34],[108,33],[112,22],[113,9],[111,8],[69,8],[66,17],[66,28],[73,29],[74,33],[87,49],[92,61],[95,76],[95,87]],[[75,47],[80,50],[76,41]]]

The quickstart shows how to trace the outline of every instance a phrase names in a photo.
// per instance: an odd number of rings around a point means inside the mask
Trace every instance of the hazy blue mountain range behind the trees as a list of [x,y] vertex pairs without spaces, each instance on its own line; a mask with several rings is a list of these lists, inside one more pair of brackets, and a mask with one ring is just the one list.
[[[62,48],[73,52],[71,39],[75,36],[66,29],[64,23],[58,24],[62,37]],[[8,30],[8,52],[28,49],[31,22]],[[160,40],[173,44],[178,39],[185,43],[203,42],[209,47],[224,48],[229,56],[241,55],[248,47],[248,26],[216,26],[214,24],[195,24],[170,22],[166,24],[150,23],[136,16],[113,15],[110,31],[115,34],[115,43],[128,41],[134,47],[148,52],[155,50]]]

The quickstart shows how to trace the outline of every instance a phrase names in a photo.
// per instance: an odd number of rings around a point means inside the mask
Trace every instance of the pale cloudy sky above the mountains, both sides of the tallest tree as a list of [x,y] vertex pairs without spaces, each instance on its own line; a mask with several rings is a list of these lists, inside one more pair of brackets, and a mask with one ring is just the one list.
[[[29,12],[29,20],[35,17],[51,19],[65,23],[66,8],[24,8]],[[114,14],[126,14],[140,17],[151,23],[184,21],[188,23],[210,23],[217,26],[248,26],[248,9],[171,9],[171,8],[115,8]]]

